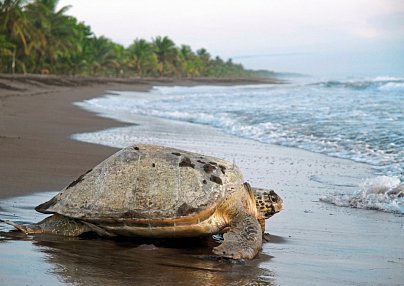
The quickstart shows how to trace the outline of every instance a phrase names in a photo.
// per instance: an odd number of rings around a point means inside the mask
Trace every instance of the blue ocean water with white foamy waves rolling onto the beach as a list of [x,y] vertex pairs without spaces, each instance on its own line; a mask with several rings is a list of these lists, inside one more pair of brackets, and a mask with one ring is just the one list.
[[[76,104],[120,121],[131,122],[128,115],[140,114],[203,124],[234,136],[371,165],[374,176],[364,178],[357,191],[336,190],[320,200],[404,214],[404,78],[302,77],[277,85],[159,86],[147,93],[112,91]],[[82,133],[73,138],[125,146],[116,133],[101,132],[104,136]]]

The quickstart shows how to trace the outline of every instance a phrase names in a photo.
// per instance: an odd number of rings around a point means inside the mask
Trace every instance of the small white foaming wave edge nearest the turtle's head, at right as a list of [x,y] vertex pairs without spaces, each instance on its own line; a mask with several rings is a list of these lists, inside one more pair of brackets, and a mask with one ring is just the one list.
[[320,200],[341,207],[404,214],[404,184],[398,177],[379,176],[367,179],[355,192],[327,195]]

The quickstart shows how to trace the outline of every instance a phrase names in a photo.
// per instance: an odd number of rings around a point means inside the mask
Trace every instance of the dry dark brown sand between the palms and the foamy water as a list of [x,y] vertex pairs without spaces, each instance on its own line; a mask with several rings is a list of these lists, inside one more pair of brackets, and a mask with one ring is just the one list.
[[74,133],[127,124],[73,102],[108,90],[148,91],[155,85],[279,83],[276,79],[117,79],[0,74],[0,198],[58,191],[117,151],[71,140]]

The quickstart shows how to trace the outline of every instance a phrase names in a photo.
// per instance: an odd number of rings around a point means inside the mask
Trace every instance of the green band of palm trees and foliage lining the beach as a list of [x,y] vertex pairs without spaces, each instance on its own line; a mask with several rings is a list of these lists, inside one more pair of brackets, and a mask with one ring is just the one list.
[[136,39],[125,48],[57,10],[58,0],[0,0],[0,72],[112,77],[251,76],[231,60],[212,59],[168,37]]

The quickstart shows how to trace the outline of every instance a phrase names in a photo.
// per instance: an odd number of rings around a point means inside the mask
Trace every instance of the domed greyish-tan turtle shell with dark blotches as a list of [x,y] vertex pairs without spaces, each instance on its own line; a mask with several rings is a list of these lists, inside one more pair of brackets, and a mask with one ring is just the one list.
[[215,208],[243,176],[225,160],[156,145],[122,149],[80,176],[42,213],[80,219],[164,219]]

